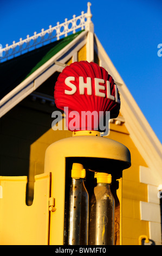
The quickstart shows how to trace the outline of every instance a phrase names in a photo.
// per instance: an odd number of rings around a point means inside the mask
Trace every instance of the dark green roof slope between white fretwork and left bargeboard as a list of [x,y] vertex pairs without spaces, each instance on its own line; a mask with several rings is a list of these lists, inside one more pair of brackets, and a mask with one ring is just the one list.
[[51,57],[55,56],[57,52],[61,51],[69,42],[73,41],[81,32],[79,31],[59,41],[54,41],[21,56],[7,60],[4,63],[0,63],[0,100]]

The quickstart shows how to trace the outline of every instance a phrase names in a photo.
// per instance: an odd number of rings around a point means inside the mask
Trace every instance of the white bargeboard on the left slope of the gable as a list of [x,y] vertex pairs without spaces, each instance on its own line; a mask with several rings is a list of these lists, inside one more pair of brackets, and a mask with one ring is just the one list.
[[[33,74],[31,74],[22,83],[20,83],[17,87],[11,90],[10,93],[5,95],[0,101],[0,118],[5,113],[10,111],[11,108],[16,106],[20,101],[22,101],[25,97],[27,97],[30,93],[34,92],[34,90],[36,90],[36,88],[39,87],[55,71],[61,72],[63,70],[63,66],[58,64],[56,61],[60,61],[61,59],[62,63],[66,62],[71,57],[67,55],[69,49],[74,47],[74,52],[79,50],[79,48],[81,48],[83,45],[85,45],[87,33],[87,31],[83,31],[81,34],[79,34],[72,42],[65,46],[61,51],[57,52],[55,56],[50,58],[40,68],[33,72]],[[70,51],[70,54],[72,55],[73,52]],[[64,57],[65,53],[66,56]],[[44,77],[46,77],[46,79],[42,79],[43,75]]]

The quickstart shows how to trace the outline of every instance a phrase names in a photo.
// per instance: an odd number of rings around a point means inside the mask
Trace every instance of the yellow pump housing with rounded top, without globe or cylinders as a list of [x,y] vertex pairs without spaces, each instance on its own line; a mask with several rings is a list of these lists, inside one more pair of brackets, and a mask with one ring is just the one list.
[[121,245],[122,170],[131,166],[131,155],[124,145],[100,137],[98,131],[73,132],[72,137],[61,139],[46,150],[44,172],[51,173],[51,197],[55,198],[56,209],[50,212],[49,245],[65,243],[67,187],[73,163],[82,164],[86,170],[112,175],[111,190],[115,199],[115,244]]

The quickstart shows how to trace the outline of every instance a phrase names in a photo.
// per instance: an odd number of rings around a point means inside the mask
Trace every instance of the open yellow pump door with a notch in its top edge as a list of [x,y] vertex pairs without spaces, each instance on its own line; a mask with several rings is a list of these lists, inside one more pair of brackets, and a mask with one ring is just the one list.
[[1,176],[0,245],[48,245],[50,174],[35,176],[34,201],[25,204],[26,176]]

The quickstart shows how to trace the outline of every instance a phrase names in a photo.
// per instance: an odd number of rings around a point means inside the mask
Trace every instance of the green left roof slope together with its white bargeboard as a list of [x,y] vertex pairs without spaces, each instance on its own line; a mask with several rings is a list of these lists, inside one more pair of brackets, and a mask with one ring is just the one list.
[[[9,60],[8,62],[2,63],[2,66],[4,65],[4,70],[6,70],[4,82],[5,78],[8,77],[7,72],[8,70],[10,70],[10,65],[14,68],[15,66],[17,66],[17,59],[20,69],[22,70],[22,74],[20,74],[20,70],[17,70],[16,74],[13,75],[16,79],[13,83],[13,78],[10,75],[9,86],[7,85],[7,88],[4,89],[8,93],[4,95],[0,101],[0,117],[10,111],[12,107],[16,106],[17,103],[22,101],[29,94],[34,92],[44,81],[47,80],[49,76],[54,74],[55,71],[61,72],[64,68],[63,64],[66,63],[68,59],[73,56],[73,52],[78,51],[81,47],[83,47],[83,45],[86,44],[86,35],[87,31],[81,31],[73,35],[69,35],[67,38],[59,41],[59,44],[51,44],[53,46],[52,48],[50,48],[49,45],[49,48],[44,47],[43,51],[41,51],[39,48],[37,49],[37,51],[31,51],[31,53],[29,54],[26,53],[27,55],[24,54],[23,56],[16,57]],[[41,53],[42,59],[40,59],[39,53]],[[26,65],[26,60],[24,56],[27,56],[27,59],[29,58],[26,71],[24,70],[21,62],[22,60],[24,62],[24,65]],[[37,62],[34,61],[34,65],[32,65],[30,64],[29,60],[31,61],[32,59],[34,59],[34,56],[37,57]],[[4,84],[2,82],[1,84],[2,93],[4,94]]]

